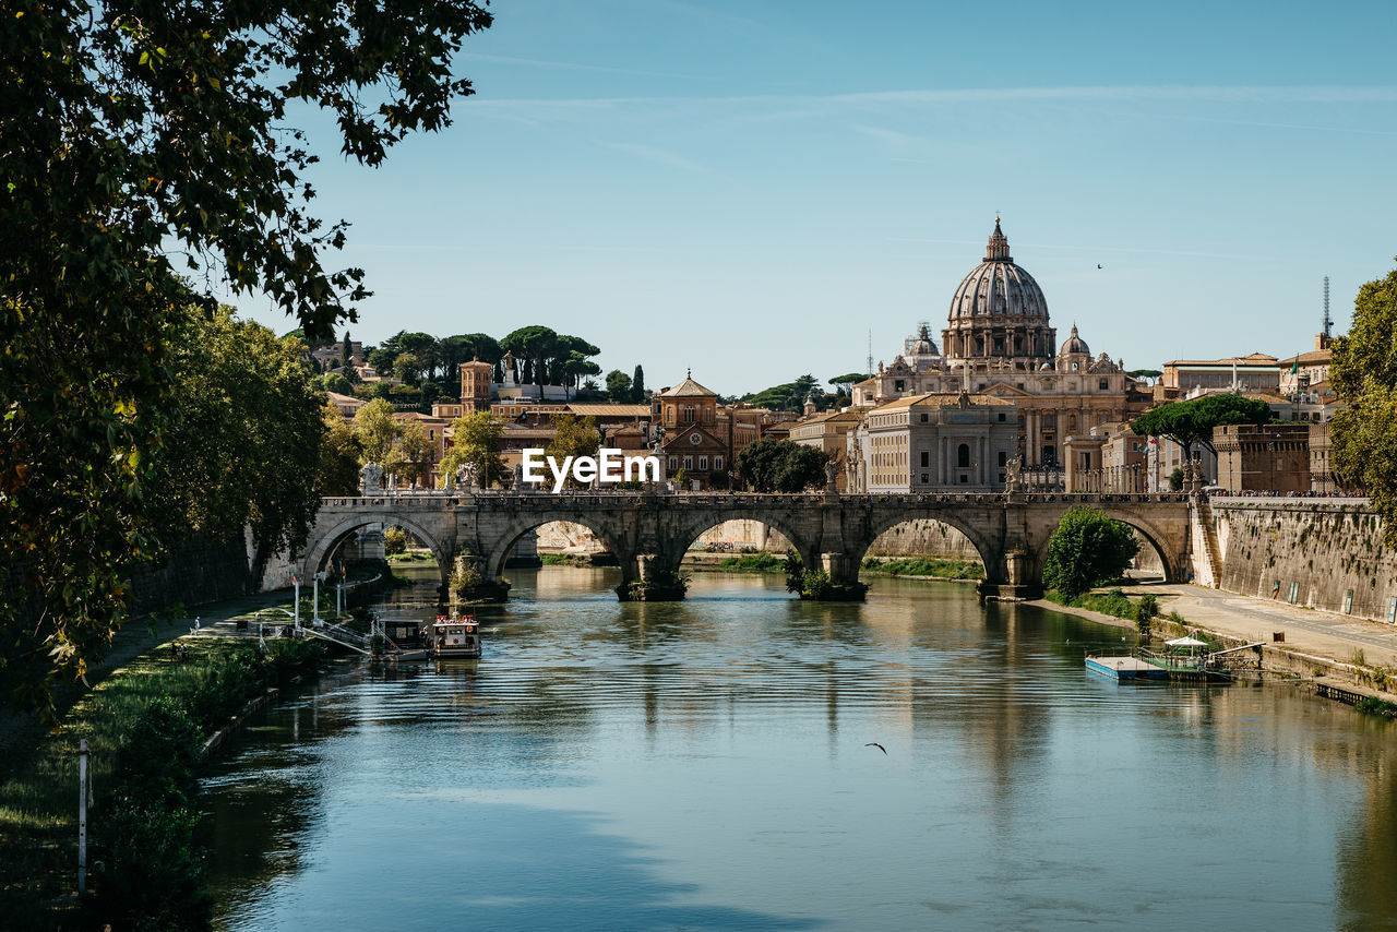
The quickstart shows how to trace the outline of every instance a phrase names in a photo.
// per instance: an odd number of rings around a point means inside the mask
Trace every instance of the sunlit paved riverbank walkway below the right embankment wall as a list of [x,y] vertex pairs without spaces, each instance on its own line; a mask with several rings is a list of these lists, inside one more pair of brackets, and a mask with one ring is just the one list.
[[[1397,629],[1333,612],[1267,602],[1199,585],[1134,584],[1127,597],[1154,595],[1160,616],[1155,639],[1197,633],[1227,647],[1260,643],[1266,669],[1298,675],[1317,694],[1354,704],[1352,697],[1397,703]],[[1136,630],[1134,619],[1051,599],[1028,602],[1101,625]],[[1175,613],[1175,618],[1168,618]],[[1277,640],[1277,634],[1281,640]]]

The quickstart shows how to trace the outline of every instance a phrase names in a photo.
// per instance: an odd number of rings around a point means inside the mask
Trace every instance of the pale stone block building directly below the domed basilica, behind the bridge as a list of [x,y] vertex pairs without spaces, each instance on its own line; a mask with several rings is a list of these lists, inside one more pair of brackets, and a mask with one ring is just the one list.
[[921,394],[877,405],[848,433],[852,492],[1002,490],[1017,454],[1014,402]]

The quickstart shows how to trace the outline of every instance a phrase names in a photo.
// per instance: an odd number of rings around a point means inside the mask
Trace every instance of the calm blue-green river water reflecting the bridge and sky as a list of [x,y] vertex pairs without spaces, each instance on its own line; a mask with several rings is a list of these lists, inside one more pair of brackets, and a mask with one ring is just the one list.
[[483,660],[345,661],[219,760],[221,928],[1397,928],[1390,724],[1090,676],[1119,630],[968,585],[510,577]]

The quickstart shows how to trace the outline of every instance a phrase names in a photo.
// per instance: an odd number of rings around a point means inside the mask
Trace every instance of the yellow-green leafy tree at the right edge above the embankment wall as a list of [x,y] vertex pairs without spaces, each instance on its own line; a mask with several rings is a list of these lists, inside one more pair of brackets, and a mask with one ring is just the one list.
[[1383,542],[1397,546],[1397,270],[1365,284],[1354,324],[1333,345],[1330,386],[1347,408],[1330,422],[1334,471],[1366,489],[1383,518]]

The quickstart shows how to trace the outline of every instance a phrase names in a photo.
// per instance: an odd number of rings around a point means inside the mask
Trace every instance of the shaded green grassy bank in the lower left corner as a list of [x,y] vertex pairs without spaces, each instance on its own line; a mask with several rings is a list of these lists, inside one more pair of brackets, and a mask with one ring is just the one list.
[[[204,741],[249,700],[314,672],[316,641],[189,639],[113,672],[59,731],[15,748],[0,777],[0,915],[10,928],[201,929],[196,840]],[[88,897],[77,889],[77,750],[91,750]],[[102,868],[98,869],[96,865]]]

